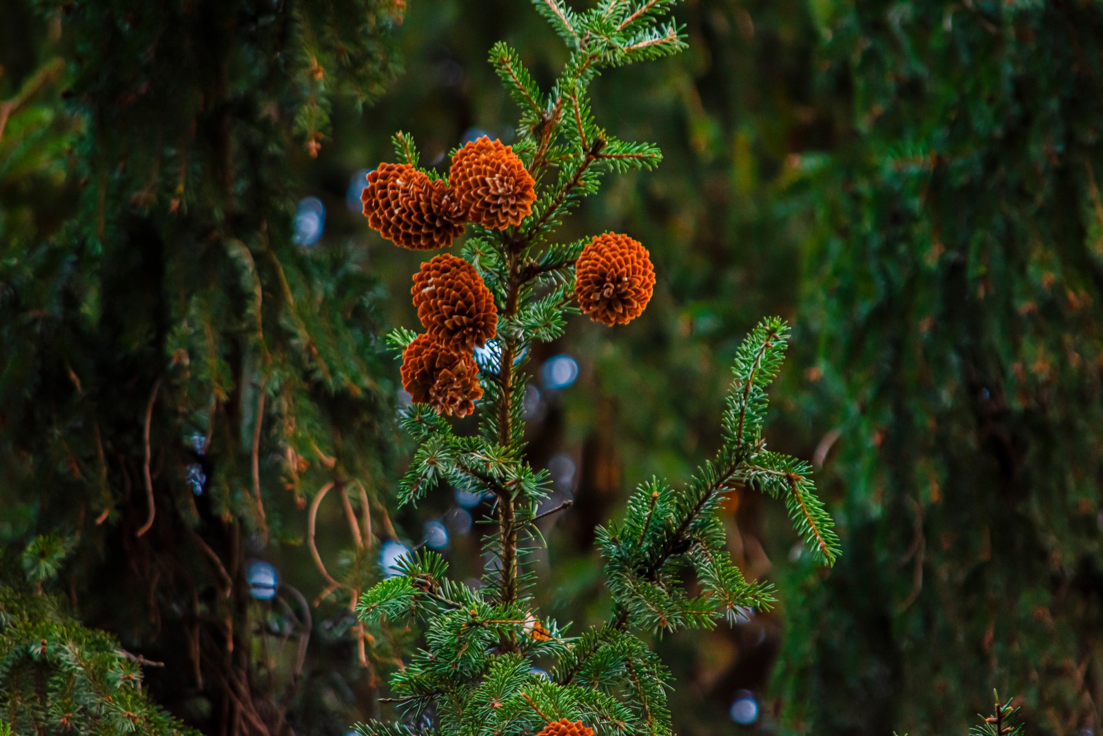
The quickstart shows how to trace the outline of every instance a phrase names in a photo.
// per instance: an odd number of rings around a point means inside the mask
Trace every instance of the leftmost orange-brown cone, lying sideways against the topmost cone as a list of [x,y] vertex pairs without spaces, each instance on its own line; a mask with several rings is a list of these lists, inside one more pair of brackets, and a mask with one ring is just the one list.
[[463,233],[454,194],[408,163],[381,163],[367,174],[360,200],[367,224],[404,248],[447,248]]

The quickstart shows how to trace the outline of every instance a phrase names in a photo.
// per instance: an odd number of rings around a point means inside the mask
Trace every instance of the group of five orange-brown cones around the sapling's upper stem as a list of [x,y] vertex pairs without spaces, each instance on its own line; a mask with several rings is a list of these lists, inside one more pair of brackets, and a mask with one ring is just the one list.
[[[396,245],[447,248],[467,223],[493,230],[520,225],[533,211],[536,182],[510,146],[483,137],[452,157],[448,183],[408,163],[383,163],[361,194],[368,225]],[[575,264],[575,297],[583,313],[609,326],[643,311],[655,285],[647,249],[627,235],[595,237]],[[441,254],[421,264],[410,289],[426,333],[403,352],[403,386],[414,402],[467,416],[482,396],[472,351],[494,338],[494,296],[474,267]]]

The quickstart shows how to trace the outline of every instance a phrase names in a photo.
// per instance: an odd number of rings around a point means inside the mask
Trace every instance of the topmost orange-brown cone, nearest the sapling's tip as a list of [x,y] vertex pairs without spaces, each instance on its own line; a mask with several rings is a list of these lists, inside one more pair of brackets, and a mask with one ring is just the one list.
[[533,211],[536,182],[510,146],[486,136],[452,157],[448,183],[469,222],[505,230]]

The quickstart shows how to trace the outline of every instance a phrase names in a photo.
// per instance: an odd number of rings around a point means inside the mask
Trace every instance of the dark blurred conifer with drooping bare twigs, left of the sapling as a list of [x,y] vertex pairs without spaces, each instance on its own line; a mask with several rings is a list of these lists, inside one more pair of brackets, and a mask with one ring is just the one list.
[[[403,7],[0,9],[0,715],[17,733],[175,733],[138,693],[141,661],[163,664],[142,693],[211,734],[332,730],[352,685],[374,686],[349,605],[376,577],[358,525],[385,501],[395,390],[376,285],[345,248],[308,247],[321,212],[295,217],[290,172],[334,100],[390,78]],[[308,559],[319,489],[354,534],[340,565],[323,545],[336,602],[315,610],[268,559]]]

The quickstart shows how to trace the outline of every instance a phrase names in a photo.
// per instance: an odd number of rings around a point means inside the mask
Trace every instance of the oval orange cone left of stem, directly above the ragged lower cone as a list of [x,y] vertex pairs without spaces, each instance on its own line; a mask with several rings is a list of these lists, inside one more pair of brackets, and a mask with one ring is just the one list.
[[421,264],[410,294],[418,319],[437,341],[470,352],[494,337],[494,296],[463,258],[442,253]]

